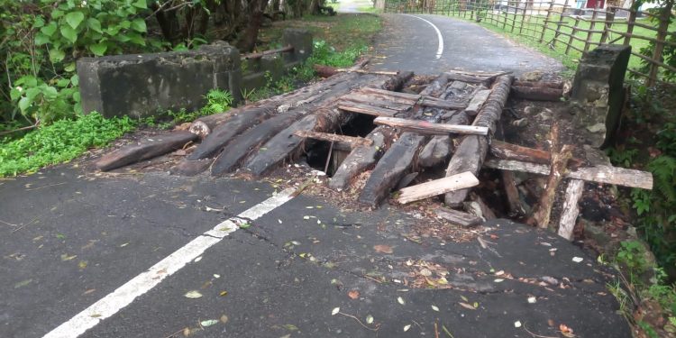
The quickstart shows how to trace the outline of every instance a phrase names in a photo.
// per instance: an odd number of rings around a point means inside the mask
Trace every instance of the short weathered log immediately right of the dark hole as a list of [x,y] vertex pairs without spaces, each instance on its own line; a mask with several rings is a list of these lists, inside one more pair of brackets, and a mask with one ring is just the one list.
[[344,189],[350,185],[352,178],[368,170],[379,160],[385,151],[388,151],[395,134],[394,128],[381,125],[366,135],[373,142],[370,147],[358,147],[343,160],[343,163],[335,170],[329,181],[329,187]]

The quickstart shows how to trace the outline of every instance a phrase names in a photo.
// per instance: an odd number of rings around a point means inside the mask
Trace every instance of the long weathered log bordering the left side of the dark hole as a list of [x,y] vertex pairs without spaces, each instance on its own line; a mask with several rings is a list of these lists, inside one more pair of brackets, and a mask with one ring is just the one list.
[[[266,151],[259,152],[249,159],[245,164],[245,168],[255,176],[263,175],[278,166],[284,160],[295,159],[300,155],[305,139],[294,136],[294,132],[332,132],[339,129],[339,127],[345,123],[348,123],[353,118],[354,114],[345,113],[334,107],[341,96],[354,92],[364,86],[397,89],[397,87],[401,87],[405,78],[410,77],[410,72],[402,72],[396,77],[363,75],[351,82],[343,83],[343,86],[347,87],[346,90],[339,91],[334,89],[326,94],[326,102],[322,105],[316,105],[320,108],[318,111],[314,112],[316,116],[314,125],[299,122],[296,125],[279,132],[278,135],[275,135],[269,142],[265,143],[264,148]],[[310,120],[305,121],[307,122]]]

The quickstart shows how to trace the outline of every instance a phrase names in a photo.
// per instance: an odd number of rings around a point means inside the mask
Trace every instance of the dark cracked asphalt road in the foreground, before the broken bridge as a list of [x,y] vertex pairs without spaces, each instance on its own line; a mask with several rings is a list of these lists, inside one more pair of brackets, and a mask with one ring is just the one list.
[[0,180],[0,336],[631,336],[609,271],[552,233],[411,242],[416,215],[291,191],[69,164]]

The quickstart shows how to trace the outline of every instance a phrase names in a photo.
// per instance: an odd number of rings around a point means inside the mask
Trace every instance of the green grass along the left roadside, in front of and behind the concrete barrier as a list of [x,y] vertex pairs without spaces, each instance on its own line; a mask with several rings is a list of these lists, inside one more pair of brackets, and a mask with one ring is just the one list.
[[[378,16],[369,14],[339,14],[307,16],[273,24],[260,32],[267,41],[265,49],[279,45],[285,28],[306,28],[315,36],[315,53],[301,69],[261,88],[251,99],[260,99],[295,89],[314,78],[312,64],[348,67],[365,52],[380,30]],[[34,172],[45,166],[73,160],[91,148],[105,147],[126,132],[137,128],[168,129],[176,123],[191,121],[204,115],[227,110],[232,96],[222,91],[206,94],[207,105],[197,112],[167,112],[162,118],[133,120],[128,117],[105,119],[100,114],[87,114],[61,120],[23,135],[0,137],[0,178]]]

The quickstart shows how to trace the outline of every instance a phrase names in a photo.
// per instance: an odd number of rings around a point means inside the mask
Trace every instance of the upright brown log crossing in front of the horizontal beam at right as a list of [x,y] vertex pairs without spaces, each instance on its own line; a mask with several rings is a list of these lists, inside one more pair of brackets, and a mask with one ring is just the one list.
[[[555,148],[557,147],[554,147],[554,149]],[[568,166],[568,160],[570,160],[571,157],[572,146],[569,144],[564,145],[561,151],[553,153],[547,185],[544,188],[543,195],[540,196],[540,200],[534,207],[533,215],[528,218],[526,224],[534,225],[541,229],[549,226],[550,216],[552,215],[552,206],[556,197],[556,189],[563,179],[566,167]]]

